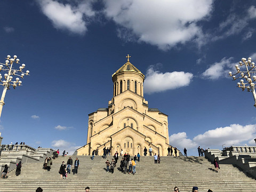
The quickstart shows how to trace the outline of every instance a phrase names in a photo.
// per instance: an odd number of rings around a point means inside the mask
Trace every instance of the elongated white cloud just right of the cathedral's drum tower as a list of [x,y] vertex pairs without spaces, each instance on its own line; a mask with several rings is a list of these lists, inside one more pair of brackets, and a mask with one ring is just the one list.
[[173,71],[161,73],[150,66],[146,73],[146,79],[143,84],[144,93],[154,93],[166,90],[177,89],[182,86],[188,86],[192,81],[193,74],[183,71]]

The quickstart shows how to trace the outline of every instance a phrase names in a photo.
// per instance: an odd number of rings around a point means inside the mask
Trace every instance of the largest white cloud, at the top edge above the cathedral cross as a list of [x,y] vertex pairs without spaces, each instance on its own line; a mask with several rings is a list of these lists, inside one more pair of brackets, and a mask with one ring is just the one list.
[[212,10],[212,1],[208,0],[108,0],[104,3],[106,16],[118,26],[131,30],[138,41],[165,50],[201,35],[197,21],[205,19]]

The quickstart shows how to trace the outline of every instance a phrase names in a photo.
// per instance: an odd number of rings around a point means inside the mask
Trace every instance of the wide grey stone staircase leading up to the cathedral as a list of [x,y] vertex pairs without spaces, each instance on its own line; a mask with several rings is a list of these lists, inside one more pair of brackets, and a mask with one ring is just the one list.
[[[23,163],[21,174],[15,176],[15,170],[9,178],[0,179],[0,191],[35,191],[37,187],[43,191],[85,191],[89,186],[92,192],[98,191],[173,191],[175,186],[180,191],[191,191],[197,186],[199,191],[212,189],[214,192],[256,191],[254,178],[246,175],[233,165],[220,165],[219,173],[204,157],[162,157],[161,164],[154,164],[153,157],[141,157],[137,162],[135,175],[123,174],[118,170],[120,159],[114,174],[106,172],[106,160],[95,156],[78,156],[80,166],[78,174],[68,174],[60,179],[58,173],[61,162],[76,156],[58,157],[53,160],[50,172],[43,170],[42,163]],[[107,156],[109,161],[112,157]],[[74,166],[72,166],[74,168]]]

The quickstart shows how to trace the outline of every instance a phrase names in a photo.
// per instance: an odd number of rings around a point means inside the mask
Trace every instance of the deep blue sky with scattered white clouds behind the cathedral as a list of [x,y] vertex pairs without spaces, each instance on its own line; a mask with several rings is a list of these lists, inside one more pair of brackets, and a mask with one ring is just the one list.
[[[88,114],[108,106],[111,75],[131,55],[150,108],[169,115],[170,144],[253,145],[256,108],[228,71],[256,60],[256,1],[1,1],[0,61],[30,76],[8,90],[3,142],[86,144]],[[1,59],[2,58],[2,59]],[[3,73],[2,73],[3,75]]]

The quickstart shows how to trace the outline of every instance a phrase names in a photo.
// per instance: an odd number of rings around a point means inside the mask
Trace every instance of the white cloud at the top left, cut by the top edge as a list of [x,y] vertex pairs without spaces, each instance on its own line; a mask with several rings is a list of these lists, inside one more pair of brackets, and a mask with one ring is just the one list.
[[38,3],[55,28],[67,29],[75,34],[84,34],[87,30],[85,18],[93,17],[95,14],[90,1],[82,1],[77,6],[54,0],[38,1]]

